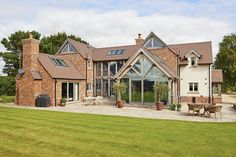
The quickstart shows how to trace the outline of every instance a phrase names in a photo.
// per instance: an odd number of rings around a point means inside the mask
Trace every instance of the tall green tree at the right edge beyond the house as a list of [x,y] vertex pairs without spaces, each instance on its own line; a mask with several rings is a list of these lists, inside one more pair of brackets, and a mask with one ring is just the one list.
[[223,71],[223,89],[236,91],[236,33],[224,36],[214,66]]

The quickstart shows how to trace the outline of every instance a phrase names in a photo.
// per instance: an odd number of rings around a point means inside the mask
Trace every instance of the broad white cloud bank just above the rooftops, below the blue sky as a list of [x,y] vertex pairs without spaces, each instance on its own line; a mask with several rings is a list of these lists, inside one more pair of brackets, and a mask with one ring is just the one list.
[[158,13],[140,16],[135,10],[99,12],[45,8],[30,22],[16,20],[1,26],[0,37],[16,30],[37,30],[44,35],[66,31],[81,36],[95,47],[134,44],[138,33],[145,37],[153,31],[167,44],[210,40],[215,55],[217,44],[223,35],[231,33],[232,28],[223,21],[207,17]]

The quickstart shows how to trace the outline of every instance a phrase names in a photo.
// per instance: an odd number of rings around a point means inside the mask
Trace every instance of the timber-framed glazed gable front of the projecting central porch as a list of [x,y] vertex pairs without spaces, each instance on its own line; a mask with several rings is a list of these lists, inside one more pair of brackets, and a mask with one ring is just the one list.
[[[129,102],[142,102],[147,104],[153,104],[153,102],[155,102],[154,84],[156,82],[168,82],[168,77],[146,56],[141,56],[139,60],[130,67],[123,79],[130,80]],[[165,100],[168,100],[168,98]]]

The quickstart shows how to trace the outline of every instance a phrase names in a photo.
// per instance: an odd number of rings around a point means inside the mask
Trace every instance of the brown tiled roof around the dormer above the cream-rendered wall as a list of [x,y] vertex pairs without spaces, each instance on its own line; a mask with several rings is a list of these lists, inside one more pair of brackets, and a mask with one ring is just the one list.
[[174,44],[169,45],[177,54],[180,55],[180,64],[187,64],[185,56],[194,50],[202,57],[199,59],[198,64],[212,64],[212,46],[211,42],[196,42],[196,43],[186,43],[186,44]]

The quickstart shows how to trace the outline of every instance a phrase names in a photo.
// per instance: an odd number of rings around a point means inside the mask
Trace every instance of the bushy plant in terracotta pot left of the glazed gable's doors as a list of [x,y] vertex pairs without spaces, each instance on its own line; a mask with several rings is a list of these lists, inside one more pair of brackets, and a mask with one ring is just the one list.
[[126,92],[127,85],[125,82],[115,82],[113,83],[112,89],[116,94],[116,105],[118,108],[122,108],[124,106],[124,101],[121,100],[121,94]]

